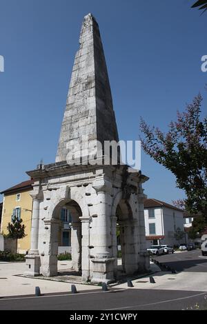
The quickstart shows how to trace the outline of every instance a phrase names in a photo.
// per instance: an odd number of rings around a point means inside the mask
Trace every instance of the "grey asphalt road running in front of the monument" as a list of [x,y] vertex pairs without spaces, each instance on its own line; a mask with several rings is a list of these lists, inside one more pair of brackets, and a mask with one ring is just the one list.
[[[157,257],[157,261],[175,268],[180,273],[173,278],[172,274],[159,273],[155,285],[150,285],[145,278],[135,281],[134,288],[128,288],[124,284],[110,288],[109,292],[96,290],[79,294],[0,298],[0,310],[101,310],[104,312],[125,310],[130,312],[132,310],[186,310],[190,307],[195,308],[196,304],[199,304],[199,309],[204,309],[207,307],[204,298],[207,296],[207,286],[206,283],[202,285],[202,278],[206,277],[207,258],[199,256],[200,252],[192,251]],[[183,283],[184,287],[182,287],[182,278],[188,281]]]

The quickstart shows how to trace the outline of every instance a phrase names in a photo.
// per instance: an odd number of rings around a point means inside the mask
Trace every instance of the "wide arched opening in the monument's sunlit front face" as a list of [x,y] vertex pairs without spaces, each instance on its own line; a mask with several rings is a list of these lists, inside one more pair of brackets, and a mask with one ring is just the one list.
[[57,228],[51,230],[51,245],[56,247],[57,272],[61,276],[81,276],[81,216],[78,203],[68,199],[61,201],[52,214]]

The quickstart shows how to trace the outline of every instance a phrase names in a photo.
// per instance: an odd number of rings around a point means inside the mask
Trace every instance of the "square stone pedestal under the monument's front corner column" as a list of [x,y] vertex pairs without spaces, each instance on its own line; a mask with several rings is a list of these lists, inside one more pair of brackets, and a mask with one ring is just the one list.
[[108,259],[92,259],[92,283],[112,283],[115,281],[114,268],[115,258]]

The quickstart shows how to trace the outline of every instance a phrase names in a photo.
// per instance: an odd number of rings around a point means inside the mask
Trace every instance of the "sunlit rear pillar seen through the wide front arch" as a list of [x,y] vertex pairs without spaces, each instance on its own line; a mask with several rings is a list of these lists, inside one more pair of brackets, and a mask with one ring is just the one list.
[[72,269],[81,271],[81,222],[72,223],[71,227]]

